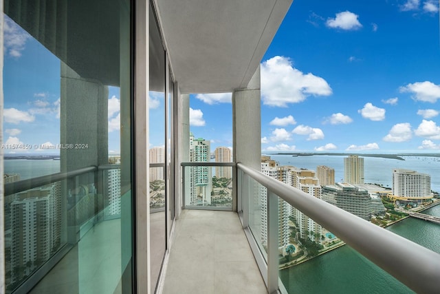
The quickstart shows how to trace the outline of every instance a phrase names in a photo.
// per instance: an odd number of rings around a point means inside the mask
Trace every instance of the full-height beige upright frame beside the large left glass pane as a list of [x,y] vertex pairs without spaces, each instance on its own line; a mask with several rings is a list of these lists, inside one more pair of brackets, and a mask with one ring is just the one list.
[[148,1],[135,1],[135,228],[137,293],[151,293],[148,140]]

